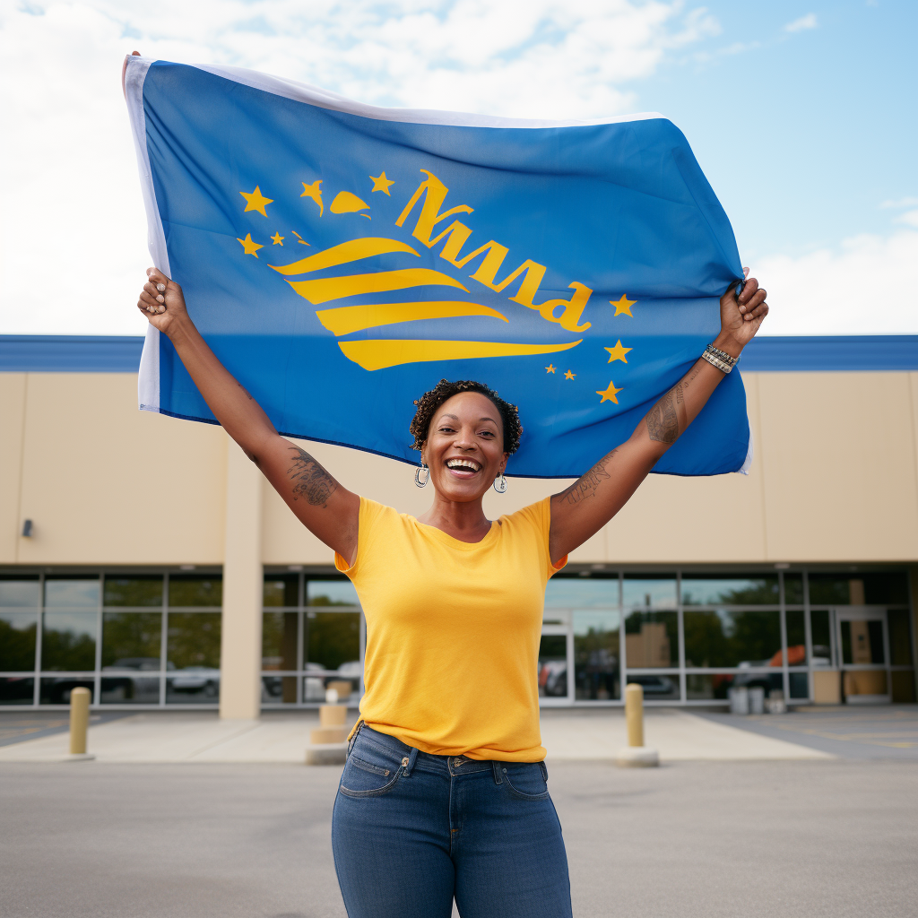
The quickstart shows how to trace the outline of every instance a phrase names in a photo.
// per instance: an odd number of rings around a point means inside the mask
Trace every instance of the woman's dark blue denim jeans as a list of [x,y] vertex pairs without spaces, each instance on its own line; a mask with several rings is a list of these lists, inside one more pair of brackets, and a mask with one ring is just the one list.
[[570,918],[542,762],[430,756],[367,726],[331,817],[349,918]]

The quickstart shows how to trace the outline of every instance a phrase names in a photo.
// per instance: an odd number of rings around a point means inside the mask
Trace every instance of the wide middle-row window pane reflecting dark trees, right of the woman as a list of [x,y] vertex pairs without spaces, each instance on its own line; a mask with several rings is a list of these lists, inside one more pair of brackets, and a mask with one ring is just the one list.
[[686,666],[781,666],[777,611],[686,610]]

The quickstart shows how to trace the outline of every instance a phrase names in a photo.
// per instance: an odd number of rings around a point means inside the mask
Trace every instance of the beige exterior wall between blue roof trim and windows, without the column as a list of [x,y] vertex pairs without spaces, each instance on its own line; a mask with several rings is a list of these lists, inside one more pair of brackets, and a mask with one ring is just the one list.
[[[918,561],[918,374],[744,375],[749,476],[650,476],[572,561],[613,564]],[[220,565],[228,441],[140,412],[133,374],[0,374],[0,564]],[[406,436],[407,436],[406,432]],[[408,465],[309,445],[342,484],[426,509]],[[509,479],[489,516],[564,482]],[[328,565],[262,481],[261,561]],[[21,538],[22,521],[35,534]]]

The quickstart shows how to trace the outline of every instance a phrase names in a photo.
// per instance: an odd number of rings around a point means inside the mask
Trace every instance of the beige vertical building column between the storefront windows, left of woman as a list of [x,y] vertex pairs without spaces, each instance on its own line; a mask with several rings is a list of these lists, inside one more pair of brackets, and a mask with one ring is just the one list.
[[262,593],[262,473],[228,437],[221,718],[252,720],[261,713]]

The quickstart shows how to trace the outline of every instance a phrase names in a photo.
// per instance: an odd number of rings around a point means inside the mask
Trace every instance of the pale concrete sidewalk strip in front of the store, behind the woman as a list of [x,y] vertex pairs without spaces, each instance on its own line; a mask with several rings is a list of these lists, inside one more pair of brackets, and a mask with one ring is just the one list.
[[[101,763],[301,765],[309,731],[318,725],[313,711],[272,711],[259,721],[221,721],[216,712],[148,711],[91,725],[88,750]],[[646,744],[663,762],[834,758],[688,711],[651,708],[644,725]],[[611,761],[627,745],[624,714],[610,708],[543,710],[542,738],[550,762]],[[56,733],[6,745],[0,747],[0,763],[59,762],[68,742],[67,733]]]

